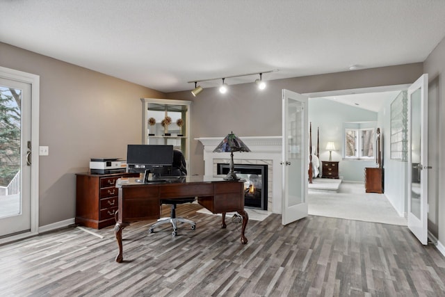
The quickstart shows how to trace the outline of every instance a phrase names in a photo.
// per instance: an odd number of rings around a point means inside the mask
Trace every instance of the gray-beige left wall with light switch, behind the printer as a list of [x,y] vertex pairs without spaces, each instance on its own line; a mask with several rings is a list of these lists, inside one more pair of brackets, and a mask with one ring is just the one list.
[[39,226],[74,218],[74,174],[91,157],[125,159],[141,141],[140,98],[165,95],[1,42],[0,53],[1,66],[40,75]]

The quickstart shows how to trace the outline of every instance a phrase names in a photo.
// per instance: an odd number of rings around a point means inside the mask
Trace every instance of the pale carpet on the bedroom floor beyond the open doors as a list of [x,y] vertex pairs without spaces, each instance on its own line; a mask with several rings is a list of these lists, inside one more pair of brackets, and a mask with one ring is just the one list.
[[339,193],[309,191],[308,211],[313,216],[346,218],[391,225],[407,225],[384,194],[365,193],[363,184],[343,182]]

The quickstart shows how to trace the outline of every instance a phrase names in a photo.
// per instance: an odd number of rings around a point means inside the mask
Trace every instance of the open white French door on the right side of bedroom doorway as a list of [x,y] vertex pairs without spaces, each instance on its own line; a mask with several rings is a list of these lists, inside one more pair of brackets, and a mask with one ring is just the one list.
[[408,88],[408,227],[428,244],[428,74]]

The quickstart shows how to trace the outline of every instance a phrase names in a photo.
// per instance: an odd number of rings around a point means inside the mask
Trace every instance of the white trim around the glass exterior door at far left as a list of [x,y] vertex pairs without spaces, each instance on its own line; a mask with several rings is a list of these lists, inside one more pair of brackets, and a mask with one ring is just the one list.
[[0,239],[1,244],[38,234],[40,76],[0,66],[0,77],[31,85],[31,156],[33,156],[31,166],[31,229],[29,232]]

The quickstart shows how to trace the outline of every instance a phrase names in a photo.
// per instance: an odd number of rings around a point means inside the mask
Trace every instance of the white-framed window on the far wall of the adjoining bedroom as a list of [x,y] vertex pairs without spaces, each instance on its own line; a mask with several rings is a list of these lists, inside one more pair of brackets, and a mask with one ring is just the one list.
[[373,159],[375,131],[373,128],[345,129],[345,158]]

